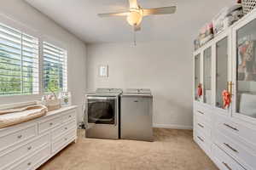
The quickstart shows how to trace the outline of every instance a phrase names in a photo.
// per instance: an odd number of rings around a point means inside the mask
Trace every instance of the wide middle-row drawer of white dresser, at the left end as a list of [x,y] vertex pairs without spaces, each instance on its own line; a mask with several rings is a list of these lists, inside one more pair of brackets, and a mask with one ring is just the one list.
[[11,151],[8,153],[5,153],[4,155],[0,155],[0,169],[4,169],[4,167],[9,167],[12,163],[15,161],[19,161],[24,156],[29,156],[32,154],[35,150],[38,150],[45,144],[49,144],[49,133],[45,134],[44,136],[39,137],[38,139],[33,140],[30,143],[23,144],[19,147],[12,148]]

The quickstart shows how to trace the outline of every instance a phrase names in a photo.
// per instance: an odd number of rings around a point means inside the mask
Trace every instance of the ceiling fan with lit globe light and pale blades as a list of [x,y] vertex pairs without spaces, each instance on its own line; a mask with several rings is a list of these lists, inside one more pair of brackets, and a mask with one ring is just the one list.
[[121,16],[126,17],[128,23],[133,26],[134,31],[141,30],[141,22],[144,16],[152,14],[174,14],[176,12],[176,6],[161,7],[161,8],[142,8],[138,5],[137,0],[129,0],[130,9],[122,13],[108,13],[98,14],[100,17],[113,17]]

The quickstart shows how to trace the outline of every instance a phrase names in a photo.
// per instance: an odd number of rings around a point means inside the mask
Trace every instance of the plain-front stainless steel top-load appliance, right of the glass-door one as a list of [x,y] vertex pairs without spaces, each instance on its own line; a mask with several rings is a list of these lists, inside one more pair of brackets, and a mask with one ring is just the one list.
[[149,89],[127,89],[121,95],[120,138],[153,141],[153,96]]

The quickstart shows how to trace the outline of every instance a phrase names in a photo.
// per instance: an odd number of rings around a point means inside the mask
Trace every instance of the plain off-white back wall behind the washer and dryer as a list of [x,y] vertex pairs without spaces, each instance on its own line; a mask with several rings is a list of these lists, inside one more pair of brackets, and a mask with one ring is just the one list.
[[[150,88],[154,126],[192,127],[193,41],[102,43],[87,46],[87,87]],[[98,65],[109,77],[97,77]]]

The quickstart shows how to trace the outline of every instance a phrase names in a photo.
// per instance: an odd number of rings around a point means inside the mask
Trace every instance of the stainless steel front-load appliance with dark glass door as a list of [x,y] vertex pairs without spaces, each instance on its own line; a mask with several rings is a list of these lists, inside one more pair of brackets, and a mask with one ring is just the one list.
[[84,111],[87,138],[119,139],[119,88],[97,88],[86,94]]

